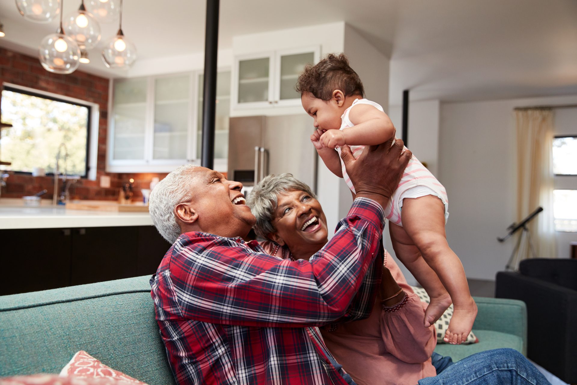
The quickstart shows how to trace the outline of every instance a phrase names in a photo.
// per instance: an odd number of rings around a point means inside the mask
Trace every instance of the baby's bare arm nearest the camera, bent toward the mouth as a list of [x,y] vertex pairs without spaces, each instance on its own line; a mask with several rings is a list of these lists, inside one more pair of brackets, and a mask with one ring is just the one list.
[[384,112],[370,104],[357,104],[349,113],[354,126],[328,130],[321,138],[324,147],[337,145],[378,145],[395,136],[395,126]]

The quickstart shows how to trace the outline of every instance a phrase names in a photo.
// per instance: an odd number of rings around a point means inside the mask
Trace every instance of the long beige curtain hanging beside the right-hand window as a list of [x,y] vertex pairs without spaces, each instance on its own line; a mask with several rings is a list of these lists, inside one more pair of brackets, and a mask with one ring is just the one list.
[[[553,111],[515,111],[517,129],[517,221],[543,207],[529,223],[538,258],[554,258],[553,218]],[[519,251],[519,260],[530,258],[529,245]]]

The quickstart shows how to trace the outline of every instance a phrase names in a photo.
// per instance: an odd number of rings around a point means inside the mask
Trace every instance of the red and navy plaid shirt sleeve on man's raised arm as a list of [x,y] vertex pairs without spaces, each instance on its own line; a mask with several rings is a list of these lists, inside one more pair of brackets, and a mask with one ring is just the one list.
[[231,238],[181,236],[170,277],[181,316],[214,324],[321,326],[346,316],[379,253],[384,213],[355,199],[339,231],[309,261],[257,253]]

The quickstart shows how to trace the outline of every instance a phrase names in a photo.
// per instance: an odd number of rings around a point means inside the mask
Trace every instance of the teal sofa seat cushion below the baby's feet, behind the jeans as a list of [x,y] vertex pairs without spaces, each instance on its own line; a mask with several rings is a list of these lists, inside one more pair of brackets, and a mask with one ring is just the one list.
[[490,349],[499,349],[500,347],[511,347],[518,352],[523,352],[523,339],[519,336],[493,330],[475,329],[474,332],[479,338],[478,343],[471,345],[439,344],[434,351],[441,354],[441,356],[451,357],[453,361],[459,361],[471,354]]

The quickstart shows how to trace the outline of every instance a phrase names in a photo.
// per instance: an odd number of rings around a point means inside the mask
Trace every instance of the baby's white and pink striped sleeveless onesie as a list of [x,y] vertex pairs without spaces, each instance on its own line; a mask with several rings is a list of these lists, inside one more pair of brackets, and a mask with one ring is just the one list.
[[[351,123],[349,120],[349,113],[351,109],[356,106],[357,104],[370,104],[371,106],[375,107],[376,109],[383,111],[383,107],[375,102],[371,102],[367,99],[355,99],[353,104],[344,111],[342,115],[342,123],[340,125],[340,129],[347,127],[352,127],[354,124]],[[353,156],[355,159],[361,155],[362,150],[365,148],[364,145],[351,145],[351,151],[353,152]],[[340,155],[340,147],[336,148]],[[406,147],[405,147],[406,149]],[[352,192],[355,192],[355,188],[351,183],[349,175],[347,175],[347,171],[344,168],[344,162],[340,160],[340,166],[343,170],[343,178],[346,182],[347,186],[351,189]],[[400,218],[400,211],[403,207],[403,199],[404,198],[418,198],[421,196],[426,195],[433,195],[438,197],[443,204],[445,205],[445,223],[449,218],[449,201],[447,197],[447,192],[443,185],[437,181],[437,178],[430,173],[429,170],[422,165],[421,162],[413,155],[413,158],[409,161],[409,165],[404,171],[403,177],[401,178],[399,185],[397,186],[393,196],[389,200],[387,207],[385,208],[385,216],[388,220],[396,225],[403,226]]]

